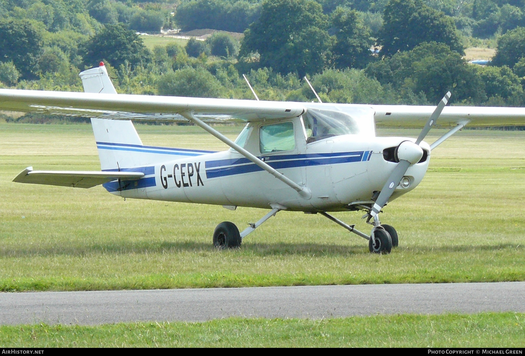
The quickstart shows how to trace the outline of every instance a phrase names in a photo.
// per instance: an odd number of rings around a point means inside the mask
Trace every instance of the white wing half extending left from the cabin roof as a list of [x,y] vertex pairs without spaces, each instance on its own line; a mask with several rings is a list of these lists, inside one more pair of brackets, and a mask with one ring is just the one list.
[[0,89],[0,110],[186,122],[177,114],[192,113],[204,115],[204,121],[247,122],[296,117],[306,109],[295,102]]

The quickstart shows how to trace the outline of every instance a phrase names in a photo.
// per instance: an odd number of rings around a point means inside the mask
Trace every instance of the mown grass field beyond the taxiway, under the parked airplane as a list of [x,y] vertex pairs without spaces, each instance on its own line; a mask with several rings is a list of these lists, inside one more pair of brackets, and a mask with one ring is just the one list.
[[[144,144],[225,148],[198,127],[137,130]],[[219,130],[233,138],[240,127]],[[320,215],[295,212],[278,213],[240,250],[217,251],[217,223],[242,229],[267,211],[16,184],[30,165],[100,169],[91,126],[0,124],[0,290],[525,281],[524,157],[525,132],[464,130],[436,148],[422,184],[384,209],[382,222],[400,233],[390,255],[370,254],[365,240]],[[335,215],[370,231],[362,212]]]

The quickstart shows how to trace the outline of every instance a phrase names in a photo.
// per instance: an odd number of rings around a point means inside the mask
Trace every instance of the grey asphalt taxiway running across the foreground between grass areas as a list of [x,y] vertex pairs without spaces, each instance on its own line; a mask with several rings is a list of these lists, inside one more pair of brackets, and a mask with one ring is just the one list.
[[525,312],[525,282],[0,293],[0,325]]

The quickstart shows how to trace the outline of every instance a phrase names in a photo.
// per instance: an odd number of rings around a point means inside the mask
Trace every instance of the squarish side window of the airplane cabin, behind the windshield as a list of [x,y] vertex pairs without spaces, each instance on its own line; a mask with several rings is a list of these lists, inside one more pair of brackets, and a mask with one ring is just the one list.
[[293,123],[283,122],[261,126],[259,139],[261,153],[292,150],[295,148]]

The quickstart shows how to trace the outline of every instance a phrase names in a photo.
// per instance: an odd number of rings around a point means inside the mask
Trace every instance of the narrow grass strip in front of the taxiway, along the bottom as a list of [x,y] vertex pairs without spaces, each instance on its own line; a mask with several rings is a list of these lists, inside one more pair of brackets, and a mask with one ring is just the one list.
[[393,315],[3,326],[0,347],[523,347],[525,315]]

